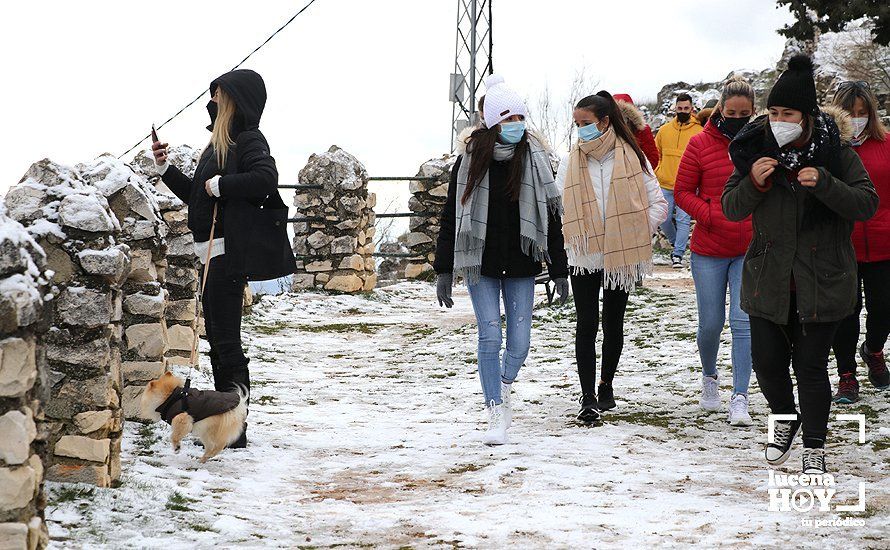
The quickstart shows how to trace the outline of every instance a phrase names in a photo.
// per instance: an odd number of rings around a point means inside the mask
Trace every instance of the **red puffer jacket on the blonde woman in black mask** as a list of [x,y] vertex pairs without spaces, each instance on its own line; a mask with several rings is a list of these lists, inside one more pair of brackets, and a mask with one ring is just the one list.
[[718,258],[743,256],[751,243],[751,218],[731,222],[723,215],[720,197],[732,174],[729,139],[711,121],[692,136],[677,171],[674,199],[695,218],[691,249]]

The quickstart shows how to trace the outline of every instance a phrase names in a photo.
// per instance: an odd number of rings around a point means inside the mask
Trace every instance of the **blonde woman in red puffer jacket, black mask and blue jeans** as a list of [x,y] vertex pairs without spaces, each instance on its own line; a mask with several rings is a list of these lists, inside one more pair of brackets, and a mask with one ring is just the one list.
[[733,171],[730,140],[754,114],[754,89],[741,77],[723,87],[720,103],[702,132],[689,140],[680,160],[674,197],[677,207],[695,219],[690,267],[698,303],[698,350],[702,363],[702,395],[706,411],[721,410],[717,382],[717,352],[726,320],[729,286],[729,326],[732,331],[733,394],[729,423],[749,426],[748,385],[751,380],[751,328],[739,295],[742,264],[751,242],[751,220],[731,222],[723,215],[720,197]]

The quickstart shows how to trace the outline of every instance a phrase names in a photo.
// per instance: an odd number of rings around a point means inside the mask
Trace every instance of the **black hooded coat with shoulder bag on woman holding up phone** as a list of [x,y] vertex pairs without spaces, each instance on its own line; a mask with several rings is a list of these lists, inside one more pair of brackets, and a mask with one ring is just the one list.
[[[231,129],[235,144],[229,149],[226,169],[219,169],[216,155],[207,147],[194,178],[170,166],[161,179],[188,204],[188,226],[197,242],[210,238],[213,205],[219,205],[214,238],[225,237],[227,275],[253,281],[289,275],[296,270],[296,262],[287,236],[288,208],[278,192],[275,159],[259,130],[265,85],[254,71],[237,70],[214,80],[211,95],[217,86],[236,105]],[[219,198],[204,189],[204,183],[216,175],[222,176]]]

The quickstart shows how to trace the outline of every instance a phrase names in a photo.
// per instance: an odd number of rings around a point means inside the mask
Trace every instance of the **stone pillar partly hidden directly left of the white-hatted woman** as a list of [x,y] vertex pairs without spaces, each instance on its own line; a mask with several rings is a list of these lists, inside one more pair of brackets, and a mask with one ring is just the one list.
[[428,160],[421,165],[417,177],[434,179],[411,182],[408,208],[414,215],[408,227],[407,245],[417,257],[408,260],[405,268],[408,279],[430,280],[435,277],[433,260],[436,257],[436,238],[439,236],[439,216],[445,206],[451,168],[456,160],[457,157],[451,155]]

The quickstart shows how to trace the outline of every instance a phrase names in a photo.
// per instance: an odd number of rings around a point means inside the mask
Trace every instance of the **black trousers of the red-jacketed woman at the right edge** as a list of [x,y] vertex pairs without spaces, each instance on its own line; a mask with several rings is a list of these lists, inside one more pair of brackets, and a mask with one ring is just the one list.
[[890,260],[859,263],[859,299],[856,312],[841,321],[834,337],[837,373],[856,372],[856,350],[859,345],[859,314],[862,312],[862,291],[865,290],[865,347],[881,351],[890,335]]

